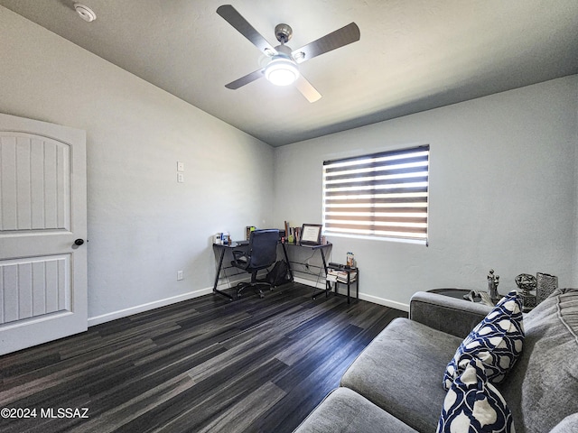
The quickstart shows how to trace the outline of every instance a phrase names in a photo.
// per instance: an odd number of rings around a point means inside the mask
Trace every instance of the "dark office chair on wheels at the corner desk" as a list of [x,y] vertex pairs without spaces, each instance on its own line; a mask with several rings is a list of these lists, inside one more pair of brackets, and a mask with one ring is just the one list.
[[277,243],[279,241],[279,230],[266,229],[251,232],[249,244],[243,250],[233,250],[233,261],[231,265],[247,271],[251,274],[250,282],[239,282],[237,286],[237,297],[241,297],[241,292],[248,287],[258,290],[259,297],[264,298],[260,286],[271,284],[266,281],[257,281],[256,273],[261,269],[266,269],[277,260]]

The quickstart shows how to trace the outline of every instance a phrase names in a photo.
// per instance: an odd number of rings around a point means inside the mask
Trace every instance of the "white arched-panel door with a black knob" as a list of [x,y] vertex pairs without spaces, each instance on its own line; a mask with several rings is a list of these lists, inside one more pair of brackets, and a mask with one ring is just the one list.
[[0,114],[0,355],[87,329],[86,133]]

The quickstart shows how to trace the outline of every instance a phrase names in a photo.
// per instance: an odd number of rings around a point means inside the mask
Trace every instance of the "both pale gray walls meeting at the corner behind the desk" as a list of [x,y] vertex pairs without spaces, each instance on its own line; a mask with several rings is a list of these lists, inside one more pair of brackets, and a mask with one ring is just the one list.
[[323,160],[423,143],[430,246],[331,238],[362,298],[406,308],[485,289],[489,268],[501,290],[521,272],[578,285],[577,76],[274,150],[1,6],[0,41],[0,112],[88,134],[91,325],[209,292],[216,232],[320,222]]

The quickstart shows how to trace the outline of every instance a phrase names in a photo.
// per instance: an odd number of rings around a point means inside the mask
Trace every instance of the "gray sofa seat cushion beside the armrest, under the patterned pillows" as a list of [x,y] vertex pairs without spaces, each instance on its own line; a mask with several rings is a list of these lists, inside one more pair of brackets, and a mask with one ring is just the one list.
[[435,431],[445,397],[440,378],[460,342],[458,336],[396,318],[350,365],[341,385],[418,431]]

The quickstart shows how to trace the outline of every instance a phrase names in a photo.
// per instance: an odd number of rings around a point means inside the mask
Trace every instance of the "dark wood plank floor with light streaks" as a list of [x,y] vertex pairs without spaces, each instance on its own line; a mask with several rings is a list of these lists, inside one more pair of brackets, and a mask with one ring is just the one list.
[[0,357],[0,408],[32,417],[0,418],[0,431],[291,432],[406,317],[311,294],[293,283],[265,299],[211,294]]

